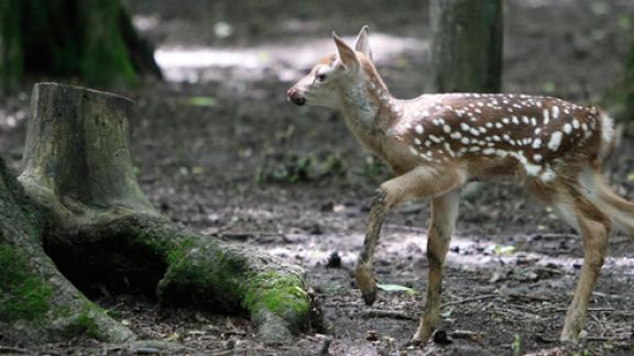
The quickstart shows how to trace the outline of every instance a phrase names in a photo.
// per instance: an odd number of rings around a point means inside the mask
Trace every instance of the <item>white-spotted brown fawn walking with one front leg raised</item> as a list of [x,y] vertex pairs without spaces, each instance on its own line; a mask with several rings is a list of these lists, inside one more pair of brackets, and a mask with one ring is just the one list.
[[372,63],[368,27],[354,49],[332,33],[337,53],[321,59],[288,91],[298,105],[339,110],[354,136],[393,169],[372,200],[363,251],[354,270],[367,304],[376,298],[374,248],[385,214],[408,199],[430,199],[429,271],[414,343],[426,342],[440,319],[445,256],[470,180],[510,177],[550,204],[581,235],[583,266],[561,341],[576,341],[608,248],[612,225],[634,237],[634,203],[601,175],[614,147],[613,121],[595,107],[525,94],[390,96]]

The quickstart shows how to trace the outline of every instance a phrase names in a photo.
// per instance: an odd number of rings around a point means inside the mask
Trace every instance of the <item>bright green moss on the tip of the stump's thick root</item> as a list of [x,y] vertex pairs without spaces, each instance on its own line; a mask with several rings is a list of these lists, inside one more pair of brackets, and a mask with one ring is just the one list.
[[249,280],[243,305],[251,312],[265,308],[286,320],[306,319],[310,301],[303,287],[297,276],[274,270],[258,274]]

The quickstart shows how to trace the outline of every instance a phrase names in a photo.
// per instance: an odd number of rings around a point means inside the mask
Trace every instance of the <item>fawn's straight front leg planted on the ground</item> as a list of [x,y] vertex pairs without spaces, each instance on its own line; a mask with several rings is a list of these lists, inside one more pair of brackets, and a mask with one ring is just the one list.
[[427,232],[427,260],[429,262],[427,298],[420,324],[412,337],[413,342],[427,342],[440,321],[442,269],[451,234],[456,229],[459,203],[460,191],[458,189],[431,201],[431,219]]

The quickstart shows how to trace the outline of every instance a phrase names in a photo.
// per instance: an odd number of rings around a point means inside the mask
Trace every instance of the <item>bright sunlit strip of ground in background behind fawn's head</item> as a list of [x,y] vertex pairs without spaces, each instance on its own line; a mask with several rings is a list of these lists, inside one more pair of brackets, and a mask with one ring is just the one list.
[[[354,37],[343,37],[350,44]],[[371,44],[376,48],[374,60],[384,64],[405,53],[420,55],[428,43],[409,37],[373,33]],[[226,80],[293,81],[300,78],[319,58],[335,52],[328,37],[300,42],[262,44],[254,47],[158,47],[154,56],[165,78],[172,81],[207,82]]]

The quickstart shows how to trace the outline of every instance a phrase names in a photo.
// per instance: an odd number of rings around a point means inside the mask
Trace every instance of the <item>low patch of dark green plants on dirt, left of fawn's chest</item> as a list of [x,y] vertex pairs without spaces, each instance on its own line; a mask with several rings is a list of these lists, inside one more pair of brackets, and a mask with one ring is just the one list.
[[294,153],[265,157],[258,170],[258,182],[299,182],[345,173],[343,162],[338,153],[326,156]]

